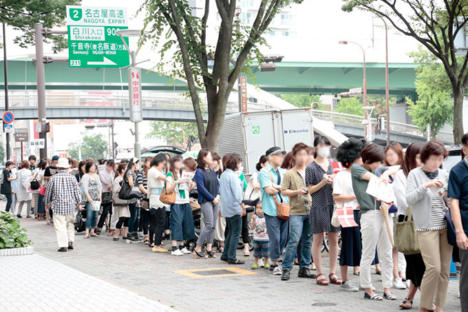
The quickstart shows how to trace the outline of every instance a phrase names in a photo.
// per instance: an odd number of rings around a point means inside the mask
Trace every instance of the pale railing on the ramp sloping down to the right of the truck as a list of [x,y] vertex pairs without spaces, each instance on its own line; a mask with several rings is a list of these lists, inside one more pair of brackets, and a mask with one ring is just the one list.
[[[343,114],[339,112],[330,112],[323,110],[312,110],[312,116],[315,118],[331,121],[332,123],[340,123],[344,125],[351,125],[355,127],[363,127],[364,116],[357,116],[351,114]],[[376,118],[370,118],[373,123],[376,123]],[[385,129],[383,129],[385,131]],[[427,136],[426,132],[421,130],[416,125],[408,125],[407,123],[397,123],[390,121],[390,132],[397,132],[410,136]],[[440,131],[437,134],[437,139],[443,142],[454,143],[453,134],[450,132]]]

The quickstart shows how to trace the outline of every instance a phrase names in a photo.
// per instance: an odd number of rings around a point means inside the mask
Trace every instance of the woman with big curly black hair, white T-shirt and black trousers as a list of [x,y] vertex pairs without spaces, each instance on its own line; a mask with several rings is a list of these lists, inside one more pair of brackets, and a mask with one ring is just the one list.
[[348,279],[348,267],[353,267],[353,274],[359,275],[361,263],[361,227],[359,222],[359,202],[352,189],[351,168],[354,164],[362,165],[361,150],[365,147],[365,141],[350,138],[338,147],[337,160],[345,167],[333,181],[333,199],[337,207],[352,207],[354,222],[357,227],[341,227],[341,253],[339,265],[341,271],[341,288],[346,291],[359,291]]

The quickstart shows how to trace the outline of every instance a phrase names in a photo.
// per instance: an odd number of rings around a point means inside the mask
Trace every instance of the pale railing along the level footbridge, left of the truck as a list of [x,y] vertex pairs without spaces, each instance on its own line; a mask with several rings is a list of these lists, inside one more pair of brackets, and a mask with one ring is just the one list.
[[[36,94],[14,94],[8,96],[10,107],[37,107]],[[46,94],[45,105],[53,107],[111,106],[127,107],[128,96],[100,94]],[[208,110],[206,100],[200,103],[202,110]],[[5,107],[5,96],[0,96],[0,107]],[[142,96],[142,107],[193,110],[190,98],[182,96]],[[273,110],[270,105],[247,103],[249,111]],[[228,112],[238,112],[237,102],[228,102]]]

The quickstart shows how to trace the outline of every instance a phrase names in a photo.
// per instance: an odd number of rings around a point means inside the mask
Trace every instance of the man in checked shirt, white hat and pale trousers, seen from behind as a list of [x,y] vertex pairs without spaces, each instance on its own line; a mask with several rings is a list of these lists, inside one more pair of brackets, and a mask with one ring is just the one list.
[[50,177],[45,190],[44,202],[47,209],[54,211],[54,229],[58,251],[73,249],[75,238],[74,212],[81,210],[81,191],[76,178],[67,172],[70,168],[67,158],[58,159],[57,173]]

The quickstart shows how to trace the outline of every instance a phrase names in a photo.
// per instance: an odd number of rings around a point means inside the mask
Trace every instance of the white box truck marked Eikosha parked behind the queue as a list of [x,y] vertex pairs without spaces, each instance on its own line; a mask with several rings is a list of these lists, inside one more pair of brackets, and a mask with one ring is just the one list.
[[218,152],[237,153],[244,172],[253,174],[260,156],[273,146],[286,151],[299,142],[312,146],[314,128],[309,108],[244,112],[226,116]]

